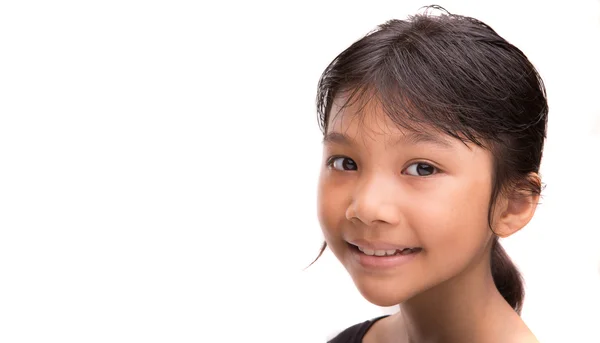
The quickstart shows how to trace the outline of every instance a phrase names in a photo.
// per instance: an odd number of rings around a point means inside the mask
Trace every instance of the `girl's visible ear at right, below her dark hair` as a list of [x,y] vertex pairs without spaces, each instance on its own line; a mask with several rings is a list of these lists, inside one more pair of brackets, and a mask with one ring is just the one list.
[[505,238],[521,230],[529,223],[540,200],[539,192],[531,191],[535,185],[541,190],[541,180],[538,174],[531,173],[526,180],[519,182],[516,187],[501,194],[495,212],[494,233]]

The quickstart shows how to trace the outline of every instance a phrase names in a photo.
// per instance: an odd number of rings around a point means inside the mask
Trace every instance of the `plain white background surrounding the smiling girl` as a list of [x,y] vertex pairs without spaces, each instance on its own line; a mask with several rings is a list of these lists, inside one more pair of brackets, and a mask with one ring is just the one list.
[[[545,343],[600,342],[600,2],[439,1],[521,48],[550,103],[504,241]],[[0,3],[0,341],[323,342],[392,309],[321,232],[327,64],[423,1]]]

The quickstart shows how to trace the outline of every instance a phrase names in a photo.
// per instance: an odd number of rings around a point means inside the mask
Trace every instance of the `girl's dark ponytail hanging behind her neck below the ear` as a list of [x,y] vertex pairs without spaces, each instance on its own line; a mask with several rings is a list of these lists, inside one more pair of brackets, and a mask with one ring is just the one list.
[[504,299],[512,306],[512,308],[521,314],[523,307],[523,299],[525,298],[525,287],[523,285],[523,277],[510,260],[510,257],[498,242],[498,237],[492,242],[492,277],[494,284],[500,291]]

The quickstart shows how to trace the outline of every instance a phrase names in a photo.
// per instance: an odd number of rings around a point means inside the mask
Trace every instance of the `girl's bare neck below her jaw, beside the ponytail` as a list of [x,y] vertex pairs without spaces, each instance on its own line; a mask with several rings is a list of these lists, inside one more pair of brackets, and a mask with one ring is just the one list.
[[489,261],[405,301],[398,315],[409,342],[491,342],[521,322],[496,288]]

